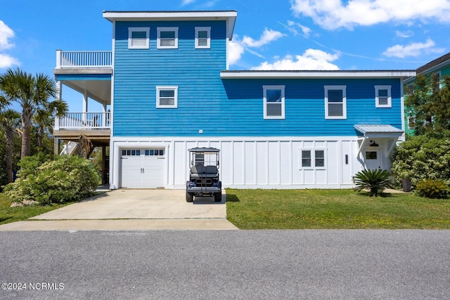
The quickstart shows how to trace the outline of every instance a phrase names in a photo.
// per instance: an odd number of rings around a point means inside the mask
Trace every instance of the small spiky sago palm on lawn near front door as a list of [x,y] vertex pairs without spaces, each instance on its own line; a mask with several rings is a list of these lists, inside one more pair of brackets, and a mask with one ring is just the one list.
[[377,197],[386,188],[392,188],[390,176],[390,171],[381,169],[359,171],[355,176],[355,190],[368,190],[371,197]]

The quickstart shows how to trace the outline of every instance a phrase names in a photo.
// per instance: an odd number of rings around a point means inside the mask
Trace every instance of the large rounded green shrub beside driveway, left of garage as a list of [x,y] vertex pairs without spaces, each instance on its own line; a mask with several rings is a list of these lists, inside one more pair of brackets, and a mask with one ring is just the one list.
[[99,177],[89,160],[63,155],[46,162],[25,157],[15,183],[5,187],[14,201],[34,200],[41,204],[82,200],[94,195]]

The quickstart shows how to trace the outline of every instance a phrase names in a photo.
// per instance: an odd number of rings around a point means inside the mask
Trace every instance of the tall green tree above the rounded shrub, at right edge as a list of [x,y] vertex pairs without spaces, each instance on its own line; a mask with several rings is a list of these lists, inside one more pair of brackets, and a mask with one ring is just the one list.
[[450,77],[418,74],[405,96],[405,105],[416,118],[416,135],[450,129]]

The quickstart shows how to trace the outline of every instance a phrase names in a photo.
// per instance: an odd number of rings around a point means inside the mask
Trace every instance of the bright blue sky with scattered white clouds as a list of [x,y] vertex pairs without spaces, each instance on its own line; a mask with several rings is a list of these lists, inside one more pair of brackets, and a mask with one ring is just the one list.
[[110,50],[103,11],[184,10],[237,11],[231,70],[412,70],[450,52],[450,0],[15,0],[0,4],[0,73]]

